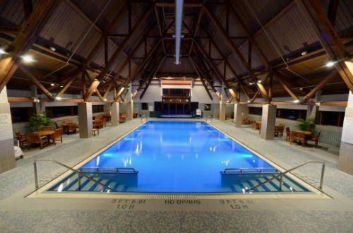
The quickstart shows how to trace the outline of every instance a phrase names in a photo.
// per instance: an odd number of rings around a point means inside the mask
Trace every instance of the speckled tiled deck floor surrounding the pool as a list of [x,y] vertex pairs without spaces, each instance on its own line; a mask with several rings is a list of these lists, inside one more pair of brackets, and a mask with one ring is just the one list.
[[[290,145],[285,138],[263,141],[258,131],[236,129],[229,121],[212,124],[285,169],[307,160],[325,161],[324,191],[333,198],[24,198],[34,189],[35,158],[73,166],[139,124],[134,119],[108,126],[89,139],[66,136],[66,143],[18,160],[16,169],[0,174],[0,232],[353,232],[353,177],[337,169],[337,155]],[[64,172],[50,163],[38,170],[42,181]],[[319,167],[296,173],[317,181]]]

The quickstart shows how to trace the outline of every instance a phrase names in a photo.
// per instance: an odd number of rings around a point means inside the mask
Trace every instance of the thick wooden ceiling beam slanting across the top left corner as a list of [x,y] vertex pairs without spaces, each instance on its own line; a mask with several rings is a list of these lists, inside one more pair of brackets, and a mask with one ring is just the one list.
[[0,60],[0,92],[20,66],[20,55],[28,52],[54,11],[56,0],[39,0],[23,28],[9,46],[10,54]]

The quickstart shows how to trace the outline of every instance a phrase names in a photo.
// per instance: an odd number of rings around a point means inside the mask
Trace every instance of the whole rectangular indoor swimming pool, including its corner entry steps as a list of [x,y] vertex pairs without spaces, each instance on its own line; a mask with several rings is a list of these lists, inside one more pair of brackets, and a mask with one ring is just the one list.
[[[48,191],[237,193],[279,174],[269,162],[205,121],[147,121]],[[306,192],[287,176],[256,192]]]

